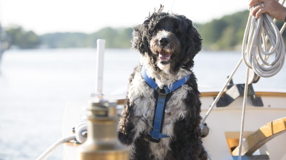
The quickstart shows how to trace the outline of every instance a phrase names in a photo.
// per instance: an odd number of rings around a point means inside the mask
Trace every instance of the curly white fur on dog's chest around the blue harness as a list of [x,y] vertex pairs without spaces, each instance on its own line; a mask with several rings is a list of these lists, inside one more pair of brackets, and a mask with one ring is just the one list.
[[[153,68],[147,63],[145,63],[144,66],[147,70],[147,75],[150,77],[154,76],[152,75]],[[181,77],[184,77],[185,74],[189,73],[185,72],[184,70],[180,74],[178,74],[178,76],[173,76],[173,79],[165,79],[166,77],[159,78],[157,76],[154,77],[158,86],[162,88],[163,85],[168,86]],[[150,142],[149,147],[155,159],[163,159],[163,157],[166,156],[168,150],[170,150],[169,144],[171,137],[174,136],[174,124],[178,120],[185,117],[186,106],[184,99],[187,97],[188,90],[191,89],[192,88],[186,84],[182,85],[182,87],[173,91],[172,96],[166,103],[162,133],[169,137],[161,138],[159,143]],[[133,123],[135,125],[134,133],[136,139],[140,133],[149,134],[151,131],[156,102],[156,99],[154,98],[154,90],[149,87],[145,80],[142,78],[141,72],[135,73],[134,79],[128,87],[128,98],[130,99],[131,103],[134,103]],[[131,150],[133,147],[131,146]]]

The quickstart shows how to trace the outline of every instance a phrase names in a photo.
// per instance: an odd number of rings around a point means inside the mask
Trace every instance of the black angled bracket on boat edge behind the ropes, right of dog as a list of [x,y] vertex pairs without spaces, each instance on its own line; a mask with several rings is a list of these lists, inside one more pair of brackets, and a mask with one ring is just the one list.
[[[227,89],[228,90],[225,92],[225,95],[223,97],[220,97],[220,99],[216,103],[217,107],[228,106],[239,96],[244,95],[244,84],[233,84],[231,80],[230,84],[227,86]],[[263,106],[262,99],[261,97],[256,96],[252,84],[248,85],[247,95],[251,96],[253,106]]]

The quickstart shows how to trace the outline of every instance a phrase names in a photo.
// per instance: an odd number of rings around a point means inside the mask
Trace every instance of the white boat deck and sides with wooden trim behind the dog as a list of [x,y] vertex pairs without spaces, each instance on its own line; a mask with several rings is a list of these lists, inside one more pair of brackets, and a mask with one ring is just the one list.
[[[203,92],[201,97],[201,116],[204,117],[218,92]],[[286,116],[286,93],[256,92],[262,98],[264,106],[255,107],[248,97],[244,124],[244,138],[261,126],[273,120]],[[113,95],[107,99],[120,99],[122,104],[125,95]],[[238,97],[226,107],[215,107],[206,120],[210,133],[203,138],[204,145],[213,160],[233,159],[228,140],[239,139],[243,97]],[[72,128],[85,114],[87,99],[70,101],[66,105],[63,117],[63,136],[72,134]],[[285,126],[286,127],[286,126]],[[227,140],[228,139],[228,140]],[[281,134],[263,145],[255,154],[268,154],[271,160],[286,160],[286,134]],[[65,159],[76,159],[76,146],[73,143],[64,144]]]

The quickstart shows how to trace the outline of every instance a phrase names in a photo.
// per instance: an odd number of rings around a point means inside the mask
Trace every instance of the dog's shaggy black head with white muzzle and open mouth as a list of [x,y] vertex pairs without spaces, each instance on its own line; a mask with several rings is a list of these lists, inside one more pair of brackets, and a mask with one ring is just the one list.
[[163,6],[134,27],[132,46],[155,70],[176,73],[180,67],[190,70],[193,58],[201,50],[201,38],[192,21],[183,15],[162,12]]

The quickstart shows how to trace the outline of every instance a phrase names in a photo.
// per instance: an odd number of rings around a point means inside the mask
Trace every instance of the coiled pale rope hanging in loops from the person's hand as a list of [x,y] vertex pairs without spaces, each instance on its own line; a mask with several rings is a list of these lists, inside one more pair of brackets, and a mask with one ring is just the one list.
[[[250,13],[258,5],[263,3],[251,6]],[[267,51],[264,33],[272,45],[269,51]],[[261,41],[264,43],[263,46]],[[272,54],[275,54],[275,59],[267,62]],[[260,77],[272,77],[282,69],[285,61],[285,46],[282,35],[268,13],[263,13],[258,19],[249,14],[242,41],[242,58],[245,65]]]

